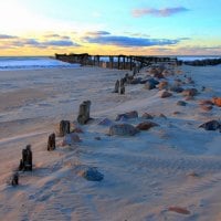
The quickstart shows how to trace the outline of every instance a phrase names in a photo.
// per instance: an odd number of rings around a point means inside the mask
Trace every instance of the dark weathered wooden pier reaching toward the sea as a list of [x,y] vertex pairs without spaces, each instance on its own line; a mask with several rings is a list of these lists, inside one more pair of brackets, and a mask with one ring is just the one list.
[[105,69],[130,70],[143,69],[156,63],[177,63],[177,57],[169,56],[137,56],[137,55],[90,55],[84,54],[55,54],[55,59],[78,63],[81,65],[101,66]]

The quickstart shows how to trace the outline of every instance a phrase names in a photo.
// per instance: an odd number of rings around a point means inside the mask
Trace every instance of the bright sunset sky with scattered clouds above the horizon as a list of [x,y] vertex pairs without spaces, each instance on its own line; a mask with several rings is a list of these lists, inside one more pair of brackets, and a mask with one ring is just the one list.
[[221,0],[7,0],[0,55],[220,55]]

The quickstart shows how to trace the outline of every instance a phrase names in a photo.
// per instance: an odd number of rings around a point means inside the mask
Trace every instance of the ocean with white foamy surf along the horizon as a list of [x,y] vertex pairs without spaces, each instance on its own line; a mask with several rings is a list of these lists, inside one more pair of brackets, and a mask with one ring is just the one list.
[[[181,61],[194,61],[204,59],[219,59],[220,56],[177,56]],[[80,64],[70,64],[61,62],[49,56],[0,56],[0,71],[10,70],[39,70],[56,67],[78,67]]]

